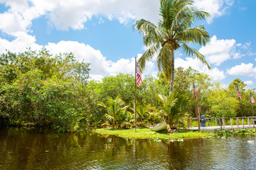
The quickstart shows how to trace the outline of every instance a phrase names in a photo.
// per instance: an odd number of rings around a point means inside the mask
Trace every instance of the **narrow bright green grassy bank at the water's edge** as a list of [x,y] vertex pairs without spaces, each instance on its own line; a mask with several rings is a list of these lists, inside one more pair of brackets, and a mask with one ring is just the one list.
[[213,132],[175,132],[175,133],[166,133],[164,132],[154,132],[149,129],[137,129],[135,132],[134,129],[129,130],[110,130],[110,129],[97,129],[95,132],[102,135],[116,135],[118,137],[132,138],[132,139],[192,139],[200,137],[210,137],[215,135]]

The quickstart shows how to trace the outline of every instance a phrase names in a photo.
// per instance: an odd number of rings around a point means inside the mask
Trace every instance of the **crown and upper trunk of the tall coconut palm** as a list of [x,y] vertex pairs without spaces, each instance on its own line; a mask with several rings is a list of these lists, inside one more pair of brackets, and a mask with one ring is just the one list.
[[143,70],[146,61],[155,55],[159,72],[170,82],[170,91],[174,86],[174,51],[179,48],[188,56],[201,60],[203,64],[210,65],[200,52],[188,43],[206,45],[210,36],[203,26],[191,28],[196,21],[204,20],[209,13],[193,8],[192,0],[160,0],[160,16],[158,26],[150,21],[140,19],[134,23],[133,28],[143,34],[144,45],[148,50],[139,58],[139,67]]

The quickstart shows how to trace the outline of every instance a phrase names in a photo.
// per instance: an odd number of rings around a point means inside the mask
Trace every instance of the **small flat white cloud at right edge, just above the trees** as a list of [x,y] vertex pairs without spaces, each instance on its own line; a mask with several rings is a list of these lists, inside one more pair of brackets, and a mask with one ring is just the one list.
[[253,64],[245,64],[241,63],[240,65],[236,65],[230,69],[227,69],[227,73],[234,76],[255,76],[256,75],[256,67],[253,68]]

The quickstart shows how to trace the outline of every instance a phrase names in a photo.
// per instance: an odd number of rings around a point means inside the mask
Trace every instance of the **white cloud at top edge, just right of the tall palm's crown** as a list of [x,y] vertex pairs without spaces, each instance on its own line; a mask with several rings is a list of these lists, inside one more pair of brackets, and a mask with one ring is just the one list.
[[234,0],[195,0],[195,6],[210,13],[208,22],[213,21],[213,18],[223,16],[227,13],[228,8],[233,5]]

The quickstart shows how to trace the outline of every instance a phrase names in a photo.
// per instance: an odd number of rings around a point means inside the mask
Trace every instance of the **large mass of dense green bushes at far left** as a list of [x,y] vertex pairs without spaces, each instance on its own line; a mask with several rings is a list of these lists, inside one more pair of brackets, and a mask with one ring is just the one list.
[[[1,56],[0,115],[11,125],[78,128],[87,117],[84,102],[89,95],[81,89],[87,83],[89,64],[71,54],[51,57],[46,50],[26,54]],[[10,72],[9,67],[14,69]]]

